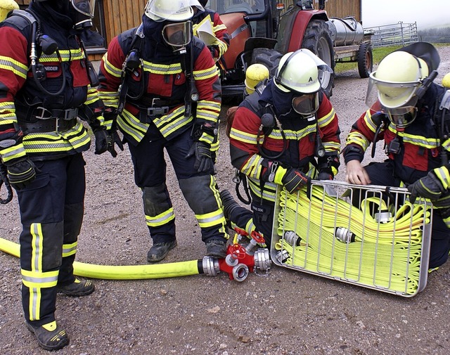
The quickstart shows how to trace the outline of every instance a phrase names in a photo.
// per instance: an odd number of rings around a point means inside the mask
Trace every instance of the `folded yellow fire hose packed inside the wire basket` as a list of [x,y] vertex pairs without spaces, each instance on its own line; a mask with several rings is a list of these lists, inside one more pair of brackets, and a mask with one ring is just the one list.
[[[379,204],[380,199],[363,200],[358,209],[324,194],[321,186],[312,186],[311,199],[304,191],[298,196],[283,191],[278,235],[294,231],[302,239],[293,246],[282,238],[275,248],[288,252],[285,264],[413,294],[418,288],[423,224],[429,222],[430,211],[406,201],[390,221],[380,224],[368,213],[370,203]],[[340,226],[354,233],[352,243],[335,238]]]

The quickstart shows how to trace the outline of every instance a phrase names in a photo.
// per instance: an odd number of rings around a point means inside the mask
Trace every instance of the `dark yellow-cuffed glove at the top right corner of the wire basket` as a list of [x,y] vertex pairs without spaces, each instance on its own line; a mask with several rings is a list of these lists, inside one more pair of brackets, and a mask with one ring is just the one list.
[[411,202],[414,202],[418,197],[429,198],[432,201],[438,200],[442,193],[449,188],[449,181],[449,169],[446,167],[433,169],[427,176],[423,176],[423,178],[408,186],[411,193]]

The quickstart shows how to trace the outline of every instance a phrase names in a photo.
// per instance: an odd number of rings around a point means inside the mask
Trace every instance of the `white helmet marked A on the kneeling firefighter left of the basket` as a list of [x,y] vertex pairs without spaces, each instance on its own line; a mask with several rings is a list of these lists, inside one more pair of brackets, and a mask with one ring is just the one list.
[[329,67],[308,49],[286,53],[280,60],[274,82],[281,91],[314,93],[321,89],[319,68],[328,70]]

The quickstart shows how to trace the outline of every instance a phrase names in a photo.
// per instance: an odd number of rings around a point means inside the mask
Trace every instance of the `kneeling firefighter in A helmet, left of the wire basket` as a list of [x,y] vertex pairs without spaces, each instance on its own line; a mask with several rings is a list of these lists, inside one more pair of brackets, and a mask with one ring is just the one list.
[[247,96],[230,131],[231,163],[250,186],[251,212],[221,191],[231,226],[257,230],[270,245],[277,186],[296,193],[311,178],[338,172],[338,115],[323,94],[319,70],[326,63],[307,49],[285,54],[274,79]]

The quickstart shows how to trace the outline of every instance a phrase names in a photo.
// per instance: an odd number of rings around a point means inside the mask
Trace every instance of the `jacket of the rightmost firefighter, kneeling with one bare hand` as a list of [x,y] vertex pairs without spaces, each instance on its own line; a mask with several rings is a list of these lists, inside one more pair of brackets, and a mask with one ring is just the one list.
[[385,128],[380,129],[376,141],[385,141],[385,152],[394,164],[395,177],[404,183],[413,183],[440,167],[440,151],[450,150],[450,140],[441,142],[438,133],[442,117],[439,103],[443,95],[444,88],[433,83],[416,104],[416,119],[404,130],[397,130],[385,115],[375,115],[375,110],[367,110],[353,124],[347,136],[343,150],[345,163],[364,159],[364,152],[374,142],[377,127],[381,120],[385,120]]

